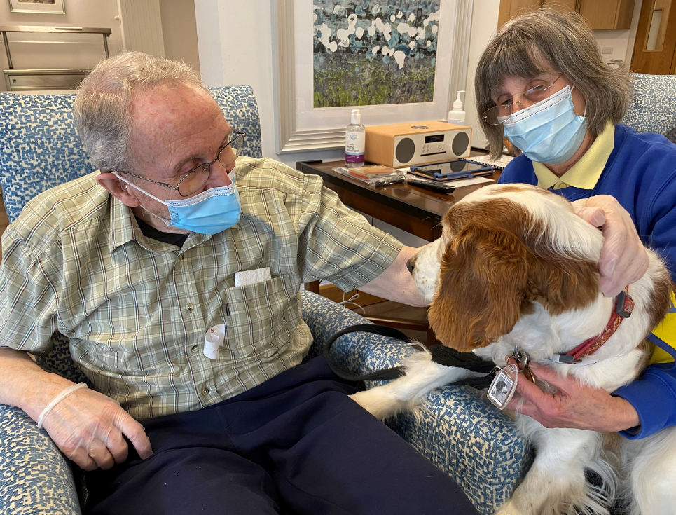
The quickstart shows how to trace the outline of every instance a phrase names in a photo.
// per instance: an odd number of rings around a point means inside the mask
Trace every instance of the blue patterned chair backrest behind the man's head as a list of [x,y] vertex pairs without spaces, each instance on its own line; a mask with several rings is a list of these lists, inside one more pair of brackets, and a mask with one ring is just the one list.
[[[262,157],[251,86],[210,91],[233,128],[247,134],[242,153]],[[9,221],[38,193],[96,171],[75,131],[74,98],[0,93],[0,181]]]

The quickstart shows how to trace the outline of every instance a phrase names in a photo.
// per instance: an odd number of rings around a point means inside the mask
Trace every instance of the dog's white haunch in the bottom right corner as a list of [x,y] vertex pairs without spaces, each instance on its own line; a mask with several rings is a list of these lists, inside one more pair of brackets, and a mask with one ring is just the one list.
[[631,515],[676,514],[676,427],[624,440]]

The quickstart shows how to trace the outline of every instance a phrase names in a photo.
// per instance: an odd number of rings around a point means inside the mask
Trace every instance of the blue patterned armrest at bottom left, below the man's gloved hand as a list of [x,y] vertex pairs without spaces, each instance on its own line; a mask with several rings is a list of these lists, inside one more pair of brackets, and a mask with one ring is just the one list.
[[0,513],[80,515],[64,455],[19,408],[0,404]]

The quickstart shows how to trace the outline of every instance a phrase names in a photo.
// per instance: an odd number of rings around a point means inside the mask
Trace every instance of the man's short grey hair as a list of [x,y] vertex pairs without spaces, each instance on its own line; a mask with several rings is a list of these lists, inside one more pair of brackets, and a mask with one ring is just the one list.
[[78,88],[73,114],[78,135],[97,167],[133,167],[127,145],[134,94],[161,85],[204,88],[198,74],[187,64],[141,52],[102,60],[85,77]]

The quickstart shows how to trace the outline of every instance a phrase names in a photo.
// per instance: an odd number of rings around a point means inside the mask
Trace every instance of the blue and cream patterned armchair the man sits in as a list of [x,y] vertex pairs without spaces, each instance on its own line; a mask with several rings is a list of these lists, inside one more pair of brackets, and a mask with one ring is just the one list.
[[[212,94],[233,127],[247,133],[244,153],[260,157],[258,108],[251,88],[215,88]],[[0,94],[0,181],[10,221],[46,188],[95,171],[76,136],[73,98]],[[326,298],[301,294],[303,320],[315,338],[313,356],[340,329],[368,323]],[[366,372],[400,364],[415,350],[401,341],[355,333],[341,337],[332,352],[350,369]],[[84,380],[60,334],[37,362],[75,382]],[[530,451],[509,418],[468,387],[436,390],[419,419],[401,416],[390,425],[453,476],[483,514],[509,497],[530,462]],[[84,497],[78,470],[25,413],[0,405],[1,513],[80,514]]]

